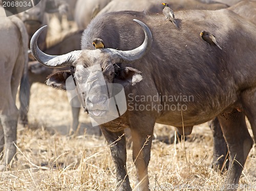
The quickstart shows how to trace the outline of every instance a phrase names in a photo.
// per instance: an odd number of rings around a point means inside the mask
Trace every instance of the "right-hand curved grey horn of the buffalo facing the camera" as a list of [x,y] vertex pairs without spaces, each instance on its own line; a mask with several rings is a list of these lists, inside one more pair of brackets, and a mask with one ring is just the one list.
[[134,62],[136,60],[141,59],[150,50],[152,45],[153,37],[150,29],[145,25],[145,23],[141,22],[140,20],[133,20],[142,27],[145,33],[145,39],[144,42],[139,47],[131,51],[117,51],[111,49],[111,52],[117,55],[121,59],[121,62]]

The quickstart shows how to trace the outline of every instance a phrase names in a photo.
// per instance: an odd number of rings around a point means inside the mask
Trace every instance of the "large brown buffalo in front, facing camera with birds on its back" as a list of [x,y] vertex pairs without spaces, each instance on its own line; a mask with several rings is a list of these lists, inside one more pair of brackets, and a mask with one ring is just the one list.
[[[118,107],[120,116],[100,125],[112,144],[119,190],[132,190],[122,137],[125,128],[132,132],[140,190],[149,190],[147,166],[155,123],[184,127],[190,133],[194,125],[218,116],[229,148],[229,176],[224,185],[233,184],[232,188],[237,187],[253,145],[245,116],[256,139],[256,26],[229,10],[179,11],[175,15],[179,30],[163,20],[163,15],[123,11],[96,16],[84,30],[82,50],[61,56],[38,49],[36,41],[44,28],[31,40],[32,54],[41,64],[70,66],[51,75],[46,83],[67,89],[66,80],[75,79],[72,87],[94,122],[107,120],[110,103],[120,104],[112,97],[115,88],[111,84],[124,88],[126,112],[121,114]],[[223,50],[205,43],[199,35],[202,30],[215,34]],[[94,38],[101,38],[106,48],[93,50]]]

